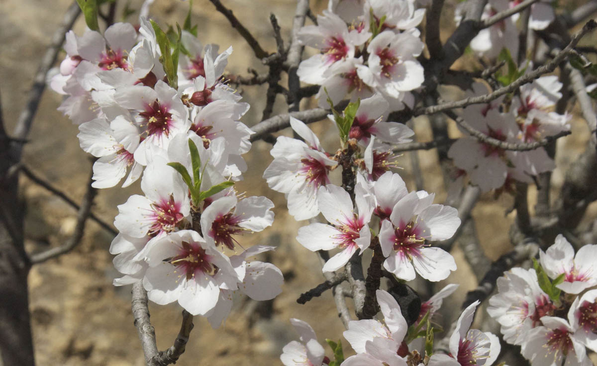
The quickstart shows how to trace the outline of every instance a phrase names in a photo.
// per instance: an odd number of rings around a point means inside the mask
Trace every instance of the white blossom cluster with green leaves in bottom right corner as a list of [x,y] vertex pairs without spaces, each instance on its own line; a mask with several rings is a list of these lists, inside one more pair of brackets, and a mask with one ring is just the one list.
[[498,278],[487,312],[531,365],[592,365],[587,348],[597,350],[597,245],[575,255],[558,235],[539,254],[536,269],[515,267]]

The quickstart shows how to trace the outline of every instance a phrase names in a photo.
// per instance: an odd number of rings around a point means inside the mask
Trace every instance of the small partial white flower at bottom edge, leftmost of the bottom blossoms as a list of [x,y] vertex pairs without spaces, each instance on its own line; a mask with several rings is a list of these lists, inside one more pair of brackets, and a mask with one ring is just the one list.
[[325,350],[317,342],[313,328],[299,319],[291,318],[290,322],[300,336],[300,342],[293,340],[282,348],[282,355],[280,355],[282,364],[284,366],[321,366],[324,364]]

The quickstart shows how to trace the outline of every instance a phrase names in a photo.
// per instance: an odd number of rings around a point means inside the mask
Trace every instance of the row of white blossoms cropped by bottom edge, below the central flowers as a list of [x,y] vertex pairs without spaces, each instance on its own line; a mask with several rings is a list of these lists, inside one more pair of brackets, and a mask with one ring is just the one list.
[[[439,309],[444,297],[456,290],[456,285],[448,285],[421,306],[417,321],[422,318],[431,319]],[[427,353],[429,358],[424,359],[425,353],[417,347],[416,336],[413,330],[420,330],[417,323],[407,324],[402,315],[402,310],[396,299],[387,291],[377,290],[377,302],[383,315],[383,322],[378,319],[362,319],[350,321],[348,330],[343,336],[356,355],[350,356],[341,362],[342,366],[358,365],[431,365],[431,366],[490,366],[496,361],[500,353],[500,342],[491,333],[470,329],[476,307],[479,302],[469,305],[456,323],[456,328],[450,336],[449,352]],[[313,329],[303,321],[291,319],[300,335],[301,342],[293,341],[282,349],[280,359],[285,366],[313,365],[322,366],[330,364],[330,359],[324,355],[323,347],[317,342]],[[416,332],[416,331],[415,331]]]

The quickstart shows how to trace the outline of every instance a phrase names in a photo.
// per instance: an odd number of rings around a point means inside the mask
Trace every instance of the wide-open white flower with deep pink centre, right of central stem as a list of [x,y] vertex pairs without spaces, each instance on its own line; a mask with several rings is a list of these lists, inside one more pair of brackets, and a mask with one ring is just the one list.
[[[418,196],[420,194],[421,196]],[[456,208],[432,204],[433,195],[411,192],[392,208],[390,220],[381,223],[379,242],[386,260],[385,269],[410,281],[415,270],[429,281],[441,281],[456,270],[454,258],[427,240],[451,238],[458,226]]]

